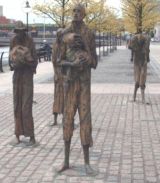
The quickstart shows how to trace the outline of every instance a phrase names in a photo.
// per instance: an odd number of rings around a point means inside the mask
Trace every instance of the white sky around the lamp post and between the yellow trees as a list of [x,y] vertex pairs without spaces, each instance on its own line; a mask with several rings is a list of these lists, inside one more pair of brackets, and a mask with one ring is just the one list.
[[[28,0],[30,5],[34,3],[35,0]],[[44,2],[45,0],[39,0],[39,2]],[[120,0],[106,0],[109,6],[117,8],[120,10]],[[0,0],[0,5],[3,6],[3,15],[10,19],[22,20],[26,22],[26,13],[23,10],[26,0]],[[32,12],[29,13],[29,23],[51,23],[48,18],[38,17]]]

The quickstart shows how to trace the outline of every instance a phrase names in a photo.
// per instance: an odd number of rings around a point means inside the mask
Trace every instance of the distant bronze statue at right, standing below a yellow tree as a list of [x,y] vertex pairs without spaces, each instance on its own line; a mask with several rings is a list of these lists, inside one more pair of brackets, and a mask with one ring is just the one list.
[[142,32],[138,32],[132,39],[131,47],[134,58],[135,88],[133,100],[136,100],[137,90],[141,88],[142,103],[145,103],[145,83],[147,77],[147,62],[149,62],[149,43]]

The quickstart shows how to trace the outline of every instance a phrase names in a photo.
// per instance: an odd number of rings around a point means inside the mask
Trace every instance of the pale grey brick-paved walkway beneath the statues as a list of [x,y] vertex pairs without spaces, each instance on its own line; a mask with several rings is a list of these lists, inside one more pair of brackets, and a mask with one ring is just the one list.
[[[153,51],[156,48],[152,47]],[[158,54],[158,52],[156,52]],[[92,72],[94,146],[91,165],[97,176],[86,176],[75,117],[70,163],[73,169],[58,174],[63,163],[62,124],[53,120],[51,63],[41,63],[35,77],[33,114],[37,146],[13,147],[14,120],[11,73],[0,75],[0,183],[159,183],[160,182],[160,57],[148,65],[146,105],[132,102],[133,64],[124,47],[99,62]],[[160,54],[159,54],[160,55]],[[23,139],[22,139],[23,140]]]

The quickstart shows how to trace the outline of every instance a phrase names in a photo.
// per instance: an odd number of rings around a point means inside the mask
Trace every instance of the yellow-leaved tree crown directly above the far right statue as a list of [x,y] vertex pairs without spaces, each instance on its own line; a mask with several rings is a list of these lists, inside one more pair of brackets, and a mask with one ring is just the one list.
[[160,20],[157,0],[121,0],[125,29],[129,32],[148,31]]

